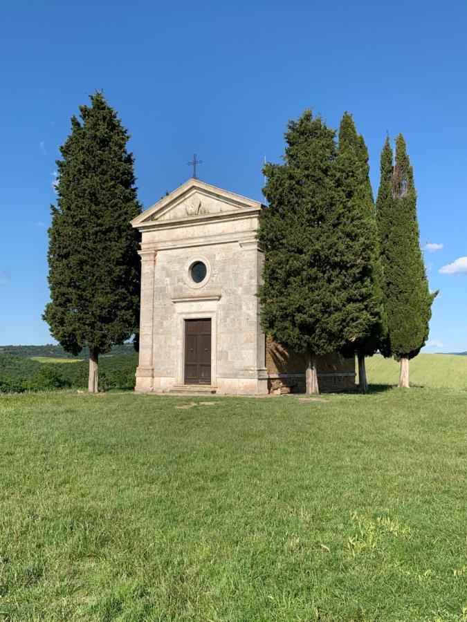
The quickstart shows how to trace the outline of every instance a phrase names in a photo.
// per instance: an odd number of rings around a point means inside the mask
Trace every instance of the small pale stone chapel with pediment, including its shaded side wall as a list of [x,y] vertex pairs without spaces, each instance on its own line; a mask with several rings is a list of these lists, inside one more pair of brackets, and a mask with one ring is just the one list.
[[[141,233],[136,391],[304,390],[304,357],[264,335],[262,203],[192,178],[131,221]],[[354,359],[318,359],[320,389],[355,386]]]

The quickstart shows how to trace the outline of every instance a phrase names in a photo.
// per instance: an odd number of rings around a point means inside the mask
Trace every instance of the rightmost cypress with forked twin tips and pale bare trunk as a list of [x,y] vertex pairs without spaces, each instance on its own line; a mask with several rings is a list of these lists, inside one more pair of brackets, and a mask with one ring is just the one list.
[[376,200],[378,234],[383,259],[383,294],[388,334],[383,355],[401,361],[399,386],[409,387],[409,360],[428,338],[431,305],[416,219],[414,174],[402,134],[396,157],[389,138],[381,153],[381,183]]

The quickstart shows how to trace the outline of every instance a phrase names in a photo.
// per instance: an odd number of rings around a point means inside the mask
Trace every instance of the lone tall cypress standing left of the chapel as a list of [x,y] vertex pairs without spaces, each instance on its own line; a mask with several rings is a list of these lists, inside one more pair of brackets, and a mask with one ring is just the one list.
[[140,213],[129,134],[102,93],[80,106],[57,160],[57,205],[49,229],[51,302],[44,320],[67,352],[89,347],[89,391],[98,391],[102,352],[136,332]]

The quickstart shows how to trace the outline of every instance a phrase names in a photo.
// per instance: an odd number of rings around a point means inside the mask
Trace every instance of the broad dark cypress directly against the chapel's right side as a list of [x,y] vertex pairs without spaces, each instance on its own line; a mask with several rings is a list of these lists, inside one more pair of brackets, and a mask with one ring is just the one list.
[[264,252],[262,328],[282,346],[306,353],[306,391],[319,393],[317,355],[349,336],[345,210],[336,201],[336,133],[305,111],[290,121],[283,164],[266,164],[258,240]]

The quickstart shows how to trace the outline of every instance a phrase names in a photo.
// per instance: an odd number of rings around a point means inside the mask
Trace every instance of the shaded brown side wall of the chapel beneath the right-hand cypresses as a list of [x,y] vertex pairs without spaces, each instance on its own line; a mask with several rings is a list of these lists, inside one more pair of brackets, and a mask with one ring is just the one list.
[[[266,337],[266,370],[268,389],[275,393],[304,393],[305,356],[282,348]],[[338,352],[318,357],[318,382],[321,391],[343,391],[356,388],[355,359]]]

